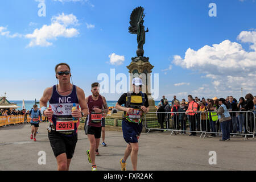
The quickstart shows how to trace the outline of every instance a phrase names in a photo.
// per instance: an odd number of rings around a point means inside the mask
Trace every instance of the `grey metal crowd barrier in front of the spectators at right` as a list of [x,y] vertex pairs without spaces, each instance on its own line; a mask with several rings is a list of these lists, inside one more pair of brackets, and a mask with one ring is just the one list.
[[[246,131],[245,133],[231,133],[230,132],[230,135],[245,135],[244,140],[247,138],[247,136],[251,135],[254,139],[255,127],[256,127],[254,111],[256,111],[256,110],[229,111],[229,113],[239,113],[239,114],[240,113],[245,113],[244,122],[246,122],[246,125],[245,125],[245,123],[243,123],[243,126],[242,126],[242,130]],[[216,132],[209,131],[210,126],[208,126],[208,125],[210,125],[210,121],[208,119],[208,113],[214,113],[214,111],[211,111],[211,112],[209,112],[209,111],[196,111],[196,112],[193,112],[193,113],[196,113],[195,129],[197,128],[197,131],[196,130],[191,130],[191,122],[189,122],[189,117],[188,117],[188,115],[185,114],[185,112],[158,112],[158,113],[152,113],[151,112],[151,113],[147,113],[146,117],[144,118],[145,128],[148,130],[147,133],[150,132],[150,130],[158,130],[158,131],[159,130],[160,131],[167,130],[167,131],[171,131],[170,135],[172,135],[173,133],[176,134],[176,131],[181,132],[181,133],[186,133],[186,132],[201,133],[200,138],[203,137],[203,135],[204,135],[203,138],[205,138],[205,136],[207,134],[216,134],[216,135],[217,134],[222,134],[218,131],[216,131]],[[184,126],[180,126],[180,124],[182,125],[182,123],[179,121],[179,114],[184,114],[183,119],[184,119],[184,116],[185,116],[185,120],[183,121],[183,125],[184,125],[184,122],[185,122],[185,130],[182,130],[182,128],[184,128]],[[201,120],[201,114],[205,114],[205,120],[203,122]],[[252,116],[251,114],[253,114],[254,117],[251,117]],[[171,115],[173,115],[172,118],[171,118]],[[251,117],[251,118],[249,119],[249,117]],[[174,121],[174,119],[175,119],[175,121]],[[236,115],[236,119],[237,119],[237,115]],[[252,121],[251,121],[251,119],[252,119]],[[167,120],[169,122],[169,125],[168,125]],[[172,120],[172,122],[171,122],[171,120]],[[158,121],[160,126],[158,124],[158,127],[148,127],[149,123],[152,122],[152,121],[153,122]],[[189,123],[190,130],[187,130],[187,121]],[[202,125],[202,123],[204,123],[204,124]],[[164,124],[166,125],[166,128],[163,128]],[[172,124],[174,126],[172,126]],[[170,125],[171,125],[172,129],[170,129],[170,127],[168,127]],[[218,122],[217,125],[219,125],[218,130],[221,130],[220,122]],[[204,129],[203,129],[202,126],[204,126]],[[245,128],[245,126],[247,126],[247,127]],[[161,128],[159,128],[159,127],[161,127]],[[199,129],[199,127],[200,127],[200,129]],[[214,127],[216,127],[216,123],[215,123]],[[232,129],[233,129],[233,125],[230,126],[230,127],[232,127]],[[243,129],[243,127],[245,129]],[[250,130],[249,130],[249,128],[250,128]],[[216,130],[216,128],[215,128],[215,130]]]

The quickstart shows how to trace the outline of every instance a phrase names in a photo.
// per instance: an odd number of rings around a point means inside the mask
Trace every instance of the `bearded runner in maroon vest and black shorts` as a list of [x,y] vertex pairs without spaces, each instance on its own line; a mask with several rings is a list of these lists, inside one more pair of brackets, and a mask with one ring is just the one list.
[[106,104],[105,97],[100,95],[99,86],[100,84],[98,84],[98,82],[94,82],[91,90],[92,95],[85,99],[88,105],[89,114],[86,119],[84,130],[90,142],[90,150],[87,150],[86,154],[89,163],[92,163],[92,171],[97,171],[95,155],[100,155],[98,146],[101,139],[102,115],[108,113],[108,105]]

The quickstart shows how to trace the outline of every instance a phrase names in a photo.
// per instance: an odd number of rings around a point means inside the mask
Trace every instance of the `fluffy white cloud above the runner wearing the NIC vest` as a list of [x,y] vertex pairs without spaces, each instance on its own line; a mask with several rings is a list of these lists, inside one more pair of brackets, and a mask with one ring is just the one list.
[[27,34],[26,38],[31,39],[28,47],[33,46],[52,46],[49,40],[56,40],[58,37],[72,38],[79,35],[76,28],[68,28],[69,26],[77,26],[78,20],[75,15],[65,15],[62,13],[53,16],[50,25],[43,25],[42,28],[36,28],[32,34]]

